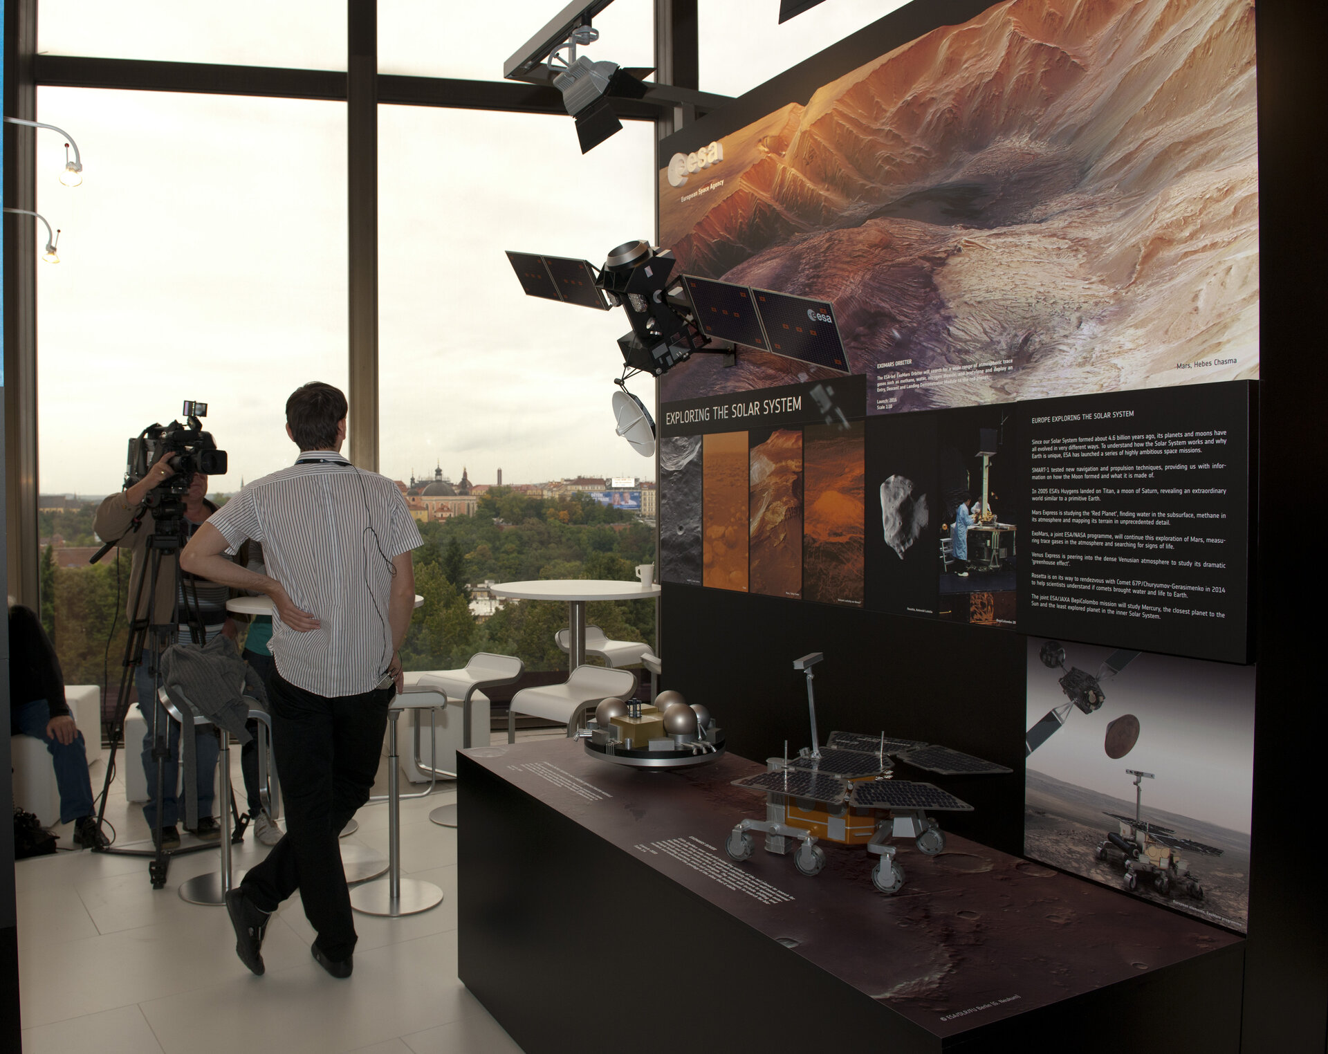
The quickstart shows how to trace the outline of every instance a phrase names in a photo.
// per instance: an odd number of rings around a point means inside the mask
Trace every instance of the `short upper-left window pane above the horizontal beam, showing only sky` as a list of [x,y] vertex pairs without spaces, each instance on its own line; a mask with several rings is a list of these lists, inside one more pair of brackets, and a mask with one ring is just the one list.
[[97,58],[345,69],[344,0],[40,0],[37,50]]

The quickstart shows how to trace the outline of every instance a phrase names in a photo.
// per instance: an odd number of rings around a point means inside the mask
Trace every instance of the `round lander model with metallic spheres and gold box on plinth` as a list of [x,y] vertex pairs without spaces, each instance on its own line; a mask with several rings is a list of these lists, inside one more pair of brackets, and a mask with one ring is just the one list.
[[592,758],[633,769],[691,769],[724,753],[724,731],[710,712],[689,706],[679,692],[660,692],[653,705],[603,700],[576,735]]

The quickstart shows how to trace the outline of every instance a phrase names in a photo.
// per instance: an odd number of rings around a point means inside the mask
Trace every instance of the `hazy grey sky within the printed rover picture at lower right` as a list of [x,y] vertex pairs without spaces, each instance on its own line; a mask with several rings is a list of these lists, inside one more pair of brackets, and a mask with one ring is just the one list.
[[[1038,658],[1042,641],[1028,640],[1028,726],[1066,702],[1057,680]],[[1065,644],[1065,665],[1097,674],[1113,649]],[[1066,783],[1134,799],[1126,769],[1153,773],[1143,786],[1143,810],[1163,808],[1250,832],[1254,781],[1254,666],[1141,654],[1104,681],[1106,702],[1094,714],[1070,710],[1065,725],[1028,758],[1028,767]],[[1139,741],[1118,761],[1106,755],[1109,722],[1139,719]],[[1185,834],[1183,831],[1181,834]]]

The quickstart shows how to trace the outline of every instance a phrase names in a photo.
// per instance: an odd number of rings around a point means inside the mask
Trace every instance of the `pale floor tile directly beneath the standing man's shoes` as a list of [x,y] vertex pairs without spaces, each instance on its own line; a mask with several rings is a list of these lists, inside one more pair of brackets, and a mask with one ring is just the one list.
[[[231,977],[190,998],[143,1004],[166,1054],[280,1050],[327,1054],[457,1021],[473,1001],[457,980],[454,933],[356,952],[355,976],[337,981],[309,956],[264,977]],[[198,1008],[208,1027],[199,1029]]]

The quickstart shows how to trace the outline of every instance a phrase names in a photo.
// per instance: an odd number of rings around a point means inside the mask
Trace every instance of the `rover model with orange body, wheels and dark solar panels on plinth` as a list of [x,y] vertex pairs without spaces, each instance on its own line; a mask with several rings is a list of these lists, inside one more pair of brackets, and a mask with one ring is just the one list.
[[895,860],[892,839],[912,838],[919,852],[935,856],[946,848],[946,834],[928,814],[971,812],[972,806],[932,783],[894,779],[895,758],[939,775],[1011,770],[947,746],[891,739],[884,733],[835,731],[825,747],[817,746],[811,668],[822,658],[814,652],[793,664],[807,674],[813,746],[794,758],[770,758],[766,771],[733,782],[765,794],[765,819],[744,819],[729,832],[724,848],[733,860],[746,860],[756,851],[756,835],[764,834],[766,852],[793,852],[793,866],[810,876],[825,867],[818,840],[866,846],[879,858],[871,871],[872,884],[882,893],[896,893],[903,888],[904,871]]

